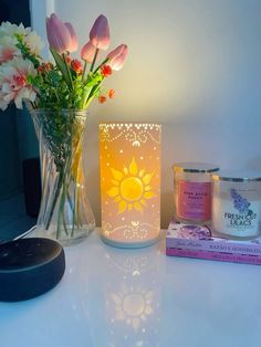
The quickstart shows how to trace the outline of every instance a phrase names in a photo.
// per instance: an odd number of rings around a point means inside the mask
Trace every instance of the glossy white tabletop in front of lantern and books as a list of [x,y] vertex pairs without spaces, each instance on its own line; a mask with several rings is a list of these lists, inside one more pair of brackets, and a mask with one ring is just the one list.
[[115,249],[93,232],[65,248],[55,288],[0,303],[0,346],[260,346],[261,267],[167,257],[164,246]]

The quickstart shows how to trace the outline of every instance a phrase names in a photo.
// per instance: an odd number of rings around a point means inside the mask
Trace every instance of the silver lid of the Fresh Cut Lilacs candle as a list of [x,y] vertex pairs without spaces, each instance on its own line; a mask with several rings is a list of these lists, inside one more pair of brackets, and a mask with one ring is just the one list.
[[254,171],[219,171],[211,175],[215,181],[232,181],[232,182],[246,182],[246,181],[261,181],[261,172]]

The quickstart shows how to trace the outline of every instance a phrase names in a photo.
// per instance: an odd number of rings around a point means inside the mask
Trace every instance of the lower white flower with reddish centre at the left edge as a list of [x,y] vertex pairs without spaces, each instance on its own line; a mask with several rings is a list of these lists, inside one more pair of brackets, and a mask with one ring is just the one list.
[[35,76],[36,70],[32,62],[21,57],[3,63],[0,66],[0,108],[4,111],[10,102],[22,108],[22,101],[34,102],[36,93],[28,84],[28,76]]

